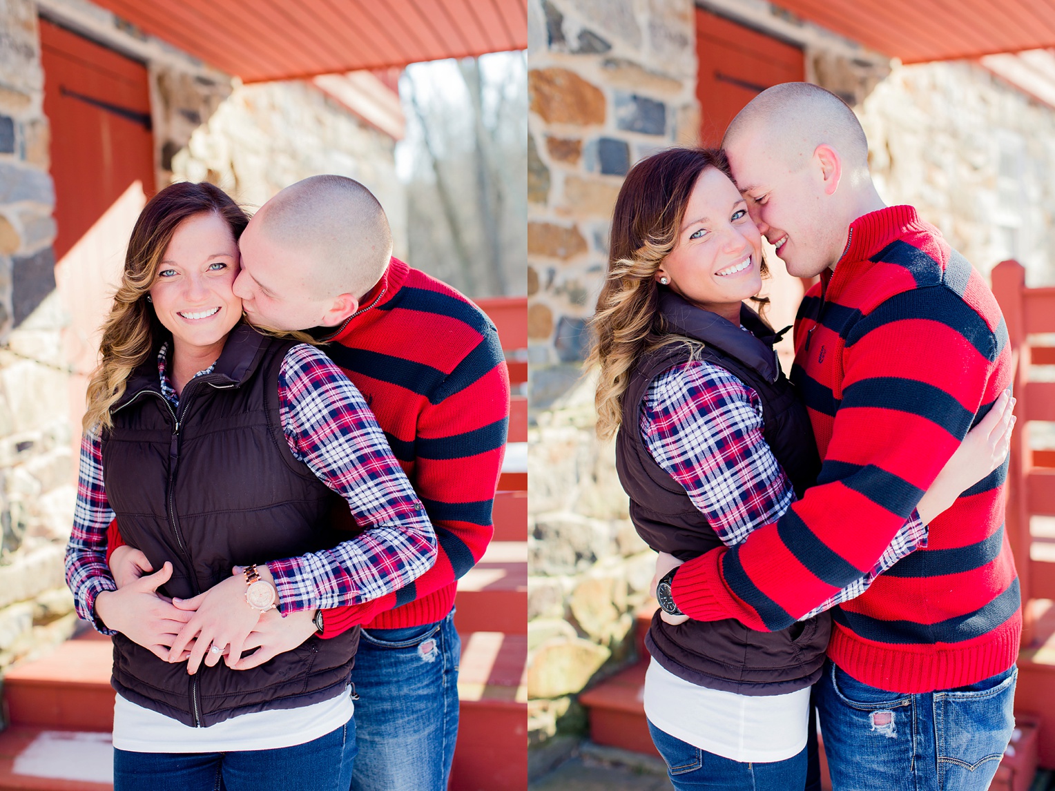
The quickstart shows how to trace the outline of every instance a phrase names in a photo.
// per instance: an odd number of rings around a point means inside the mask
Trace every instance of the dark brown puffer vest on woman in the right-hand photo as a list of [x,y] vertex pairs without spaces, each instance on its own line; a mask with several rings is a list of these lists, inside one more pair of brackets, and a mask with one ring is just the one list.
[[[660,289],[659,309],[670,332],[702,341],[696,359],[732,373],[762,401],[763,436],[791,480],[795,495],[816,481],[821,462],[806,408],[781,371],[778,340],[748,307],[744,332],[715,313]],[[640,409],[649,385],[690,359],[686,344],[671,344],[638,361],[622,402],[616,438],[616,469],[630,496],[630,518],[656,552],[690,560],[722,546],[685,488],[653,460],[641,438]],[[754,632],[735,619],[688,620],[671,625],[657,612],[645,644],[665,669],[687,681],[740,695],[781,695],[809,687],[821,676],[831,622],[827,613],[781,632]]]

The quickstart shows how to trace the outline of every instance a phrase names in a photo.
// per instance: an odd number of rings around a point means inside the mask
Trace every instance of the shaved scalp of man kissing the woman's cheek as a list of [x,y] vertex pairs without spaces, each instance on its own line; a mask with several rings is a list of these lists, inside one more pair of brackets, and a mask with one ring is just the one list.
[[311,262],[310,282],[320,296],[362,296],[381,279],[392,252],[381,204],[345,176],[311,176],[287,187],[253,224],[270,243]]

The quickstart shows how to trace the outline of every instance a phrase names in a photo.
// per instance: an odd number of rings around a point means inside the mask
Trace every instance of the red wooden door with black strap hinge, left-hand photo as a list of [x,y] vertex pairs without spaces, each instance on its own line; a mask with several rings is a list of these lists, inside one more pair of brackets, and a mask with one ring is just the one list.
[[99,329],[132,227],[154,193],[150,90],[142,63],[45,20],[40,41],[58,224],[55,285],[70,317],[62,345],[74,371],[69,416],[76,459]]

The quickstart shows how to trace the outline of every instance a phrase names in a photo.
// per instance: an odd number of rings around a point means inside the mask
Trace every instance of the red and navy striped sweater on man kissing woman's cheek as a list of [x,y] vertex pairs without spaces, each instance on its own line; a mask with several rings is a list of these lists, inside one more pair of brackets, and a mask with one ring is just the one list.
[[450,612],[458,578],[494,533],[491,508],[510,422],[498,333],[462,294],[392,258],[362,305],[367,309],[323,349],[373,410],[436,528],[439,556],[394,594],[325,611],[327,637],[353,623],[402,629]]

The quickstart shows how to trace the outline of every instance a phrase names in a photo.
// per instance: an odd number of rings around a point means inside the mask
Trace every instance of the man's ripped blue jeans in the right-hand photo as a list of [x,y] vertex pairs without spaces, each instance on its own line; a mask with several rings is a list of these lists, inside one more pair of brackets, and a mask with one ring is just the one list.
[[818,682],[835,791],[985,791],[1015,727],[1018,669],[967,687],[885,692],[831,661]]

